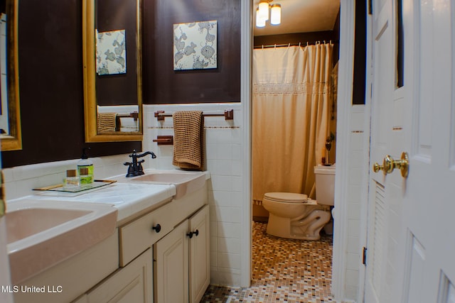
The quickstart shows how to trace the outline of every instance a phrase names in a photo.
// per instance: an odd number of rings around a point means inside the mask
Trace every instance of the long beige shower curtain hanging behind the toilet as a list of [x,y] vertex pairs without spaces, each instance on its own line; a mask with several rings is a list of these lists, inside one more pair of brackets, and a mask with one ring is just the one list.
[[314,198],[314,166],[328,136],[333,45],[253,52],[253,200],[265,192]]

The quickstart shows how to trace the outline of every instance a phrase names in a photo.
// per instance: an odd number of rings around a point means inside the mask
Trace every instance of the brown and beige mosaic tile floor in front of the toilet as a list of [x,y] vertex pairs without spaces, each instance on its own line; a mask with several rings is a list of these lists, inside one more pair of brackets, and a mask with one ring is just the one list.
[[252,284],[210,285],[200,302],[335,302],[330,295],[332,236],[319,241],[269,236],[266,223],[253,223]]

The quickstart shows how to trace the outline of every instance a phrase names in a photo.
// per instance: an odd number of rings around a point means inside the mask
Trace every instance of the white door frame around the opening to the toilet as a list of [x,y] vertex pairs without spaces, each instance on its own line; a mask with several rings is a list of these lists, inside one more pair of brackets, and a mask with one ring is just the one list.
[[[251,149],[251,77],[252,77],[252,1],[241,1],[241,67],[240,67],[240,101],[242,104],[242,154],[243,182],[242,198],[244,200],[242,206],[242,251],[240,260],[242,264],[241,270],[241,286],[249,287],[251,281],[251,262],[252,262],[252,203],[251,203],[251,184],[252,184],[252,149]],[[340,12],[340,62],[338,65],[338,75],[343,77],[338,78],[338,102],[337,102],[337,148],[336,158],[348,159],[350,155],[350,118],[352,106],[352,91],[353,91],[353,67],[354,67],[354,30],[355,30],[355,1],[341,0]],[[368,35],[369,39],[370,35]],[[369,75],[368,75],[369,77]],[[369,92],[367,87],[367,92]],[[365,130],[368,131],[368,136],[365,136],[364,146],[368,148],[369,131],[370,131],[370,111],[365,104]],[[369,157],[365,160],[369,166]],[[335,187],[335,205],[336,216],[340,219],[334,221],[333,233],[333,266],[332,266],[332,293],[336,299],[346,297],[346,248],[348,247],[348,226],[346,224],[347,205],[348,201],[348,162],[338,162],[336,171],[336,187]],[[368,170],[365,170],[368,175]],[[368,178],[366,178],[368,180]],[[368,184],[362,187],[362,197],[368,195]],[[362,201],[366,201],[363,199]],[[363,203],[365,204],[365,203]],[[366,205],[362,204],[360,231],[366,226]],[[362,236],[362,235],[360,235]],[[366,239],[366,237],[365,237]],[[360,240],[360,245],[365,246],[365,240]],[[360,247],[359,247],[360,254]],[[363,294],[363,276],[365,269],[359,264],[359,279],[358,279],[358,298]]]

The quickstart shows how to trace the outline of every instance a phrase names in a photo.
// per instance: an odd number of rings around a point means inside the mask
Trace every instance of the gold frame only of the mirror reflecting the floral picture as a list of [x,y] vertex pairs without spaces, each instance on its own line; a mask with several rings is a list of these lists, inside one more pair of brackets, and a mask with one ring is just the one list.
[[85,142],[142,141],[142,73],[141,73],[141,0],[136,0],[137,103],[139,131],[134,133],[97,131],[96,63],[95,63],[95,1],[82,1],[82,58],[84,67]]

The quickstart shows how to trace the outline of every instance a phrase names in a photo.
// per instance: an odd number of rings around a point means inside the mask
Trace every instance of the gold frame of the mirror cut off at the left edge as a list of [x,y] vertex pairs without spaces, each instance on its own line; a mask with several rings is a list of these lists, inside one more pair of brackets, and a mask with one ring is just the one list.
[[18,0],[6,1],[8,114],[10,136],[1,138],[1,150],[21,150],[21,106],[19,104]]

